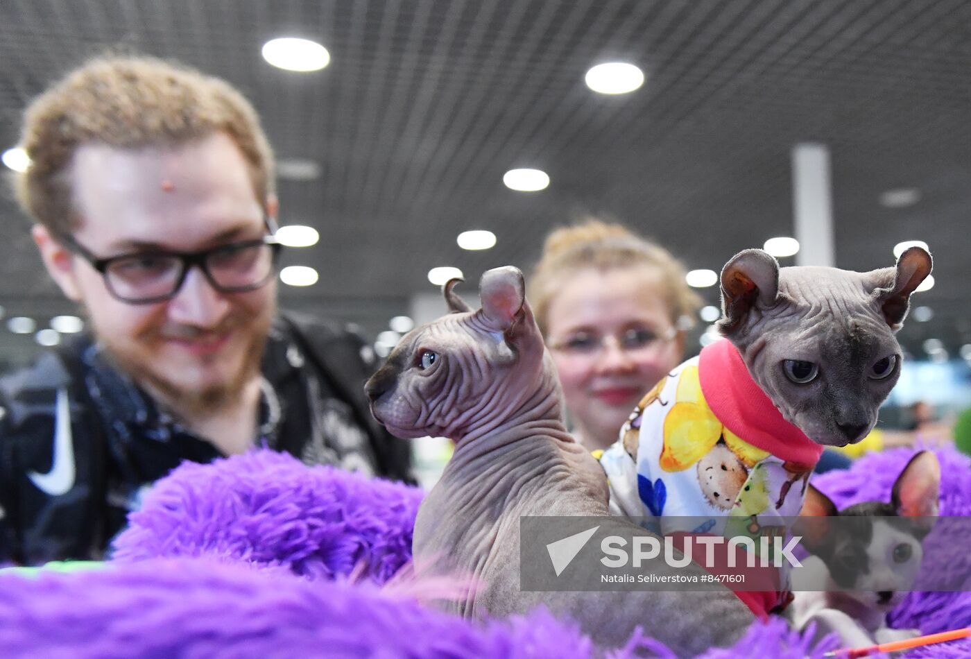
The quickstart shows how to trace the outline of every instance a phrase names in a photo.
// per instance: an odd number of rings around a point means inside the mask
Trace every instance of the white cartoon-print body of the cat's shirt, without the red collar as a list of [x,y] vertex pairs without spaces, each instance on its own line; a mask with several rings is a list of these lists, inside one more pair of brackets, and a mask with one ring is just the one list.
[[[730,515],[763,525],[762,515],[798,514],[809,466],[751,445],[723,425],[700,376],[697,357],[675,369],[631,413],[619,442],[597,452],[613,510],[635,517]],[[661,524],[674,530],[680,522]],[[681,530],[697,532],[697,525]]]

